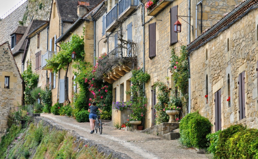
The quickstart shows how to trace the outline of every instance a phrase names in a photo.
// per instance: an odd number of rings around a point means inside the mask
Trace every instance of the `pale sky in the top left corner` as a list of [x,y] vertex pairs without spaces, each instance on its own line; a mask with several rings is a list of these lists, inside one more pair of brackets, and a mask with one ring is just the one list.
[[[20,6],[25,1],[27,1],[27,0],[0,0],[0,17],[2,17],[10,9],[15,7],[15,5],[16,5],[15,8],[17,8],[17,4],[19,2],[21,2],[21,3],[19,3],[18,6]],[[13,11],[13,9],[11,11]],[[5,17],[6,17],[6,15],[5,15]]]

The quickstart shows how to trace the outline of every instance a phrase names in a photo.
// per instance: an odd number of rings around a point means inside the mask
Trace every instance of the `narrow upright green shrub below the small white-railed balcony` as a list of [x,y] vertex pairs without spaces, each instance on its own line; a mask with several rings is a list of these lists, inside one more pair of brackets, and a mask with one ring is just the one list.
[[50,113],[52,106],[52,92],[48,86],[45,86],[45,89],[41,91],[40,98],[44,105],[42,112]]

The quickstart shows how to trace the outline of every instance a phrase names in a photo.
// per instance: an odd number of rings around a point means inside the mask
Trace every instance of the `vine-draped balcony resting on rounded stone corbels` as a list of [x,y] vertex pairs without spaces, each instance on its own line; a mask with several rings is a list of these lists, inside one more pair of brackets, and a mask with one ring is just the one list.
[[132,61],[126,49],[116,47],[99,61],[99,65],[105,69],[103,82],[112,84],[131,71]]

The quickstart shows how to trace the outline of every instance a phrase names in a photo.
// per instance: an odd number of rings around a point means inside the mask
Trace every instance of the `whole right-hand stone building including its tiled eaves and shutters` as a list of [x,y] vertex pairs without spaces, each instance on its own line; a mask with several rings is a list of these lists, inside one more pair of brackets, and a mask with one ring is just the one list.
[[258,128],[257,5],[241,2],[187,47],[191,111],[207,117],[212,132],[234,124]]

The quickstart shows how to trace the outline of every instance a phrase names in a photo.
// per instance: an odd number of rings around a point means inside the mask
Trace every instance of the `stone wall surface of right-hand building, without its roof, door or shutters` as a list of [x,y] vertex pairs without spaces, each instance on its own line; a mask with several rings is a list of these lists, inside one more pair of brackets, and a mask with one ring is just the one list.
[[[190,61],[194,61],[190,65],[191,111],[199,110],[202,116],[207,117],[214,124],[215,93],[221,90],[222,130],[234,124],[258,128],[257,27],[258,10],[252,9],[190,54]],[[206,52],[207,55],[205,55]],[[208,56],[207,60],[206,56]],[[240,120],[239,75],[244,71],[245,114]],[[208,104],[204,97],[207,91],[206,75],[208,76]],[[230,104],[227,102],[228,97],[230,97]]]

